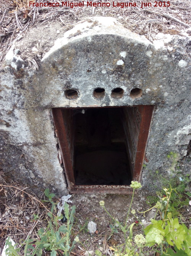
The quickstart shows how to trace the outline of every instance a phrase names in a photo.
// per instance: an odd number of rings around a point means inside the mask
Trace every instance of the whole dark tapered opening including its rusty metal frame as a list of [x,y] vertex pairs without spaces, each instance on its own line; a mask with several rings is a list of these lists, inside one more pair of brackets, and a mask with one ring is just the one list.
[[140,181],[154,106],[55,108],[68,189],[130,193]]

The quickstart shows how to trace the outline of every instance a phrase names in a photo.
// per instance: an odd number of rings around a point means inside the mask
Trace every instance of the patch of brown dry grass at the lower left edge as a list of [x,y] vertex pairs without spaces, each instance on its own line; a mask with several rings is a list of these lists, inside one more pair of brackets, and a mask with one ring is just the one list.
[[[16,243],[27,236],[38,238],[37,230],[47,226],[45,205],[29,190],[0,176],[0,255],[8,235]],[[34,215],[39,218],[34,220]]]

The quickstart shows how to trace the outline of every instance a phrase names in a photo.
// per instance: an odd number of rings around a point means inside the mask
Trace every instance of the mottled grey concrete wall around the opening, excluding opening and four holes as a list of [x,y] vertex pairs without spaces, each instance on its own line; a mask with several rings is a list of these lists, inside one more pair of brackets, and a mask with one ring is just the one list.
[[[168,152],[176,152],[177,159],[187,152],[191,128],[189,47],[188,37],[159,34],[151,43],[114,18],[95,17],[58,39],[38,71],[22,68],[18,51],[13,52],[17,61],[8,56],[9,66],[0,71],[3,172],[34,190],[49,187],[65,194],[52,107],[154,104],[146,151],[149,162],[142,173],[143,188],[151,189],[152,172],[160,168],[164,175],[169,173]],[[105,89],[105,97],[96,99],[93,91],[100,87]],[[111,92],[118,87],[124,96],[115,99]],[[142,89],[140,98],[129,97],[133,88]],[[76,89],[79,97],[67,99],[66,89]]]

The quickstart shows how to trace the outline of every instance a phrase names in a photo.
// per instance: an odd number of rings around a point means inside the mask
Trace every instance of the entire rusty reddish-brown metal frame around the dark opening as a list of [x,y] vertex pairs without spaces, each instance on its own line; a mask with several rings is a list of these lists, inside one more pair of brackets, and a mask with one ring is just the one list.
[[[110,107],[110,106],[107,106]],[[118,107],[118,106],[112,106]],[[134,107],[134,106],[119,106],[119,107]],[[147,142],[149,139],[149,130],[154,113],[153,105],[138,105],[138,111],[141,114],[139,139],[136,152],[136,160],[134,163],[133,180],[140,182],[142,165],[146,154]],[[97,108],[97,107],[86,107]],[[53,108],[53,121],[55,125],[55,134],[58,139],[58,145],[62,156],[63,165],[65,168],[66,180],[68,182],[68,190],[70,193],[123,193],[130,194],[132,189],[128,185],[75,185],[73,165],[71,162],[70,145],[67,135],[67,124],[63,118],[64,109],[77,109],[77,108]]]

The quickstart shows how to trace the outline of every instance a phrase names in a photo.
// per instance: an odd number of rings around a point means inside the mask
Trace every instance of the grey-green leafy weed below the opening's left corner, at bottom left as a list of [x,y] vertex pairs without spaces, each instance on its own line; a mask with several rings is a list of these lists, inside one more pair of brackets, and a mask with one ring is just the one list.
[[[50,193],[49,189],[46,189],[44,192],[48,200],[43,200],[45,202],[50,202],[52,204],[50,212],[47,213],[49,217],[47,228],[40,228],[38,231],[39,240],[30,239],[30,236],[21,244],[21,247],[24,247],[24,256],[42,256],[42,250],[50,252],[50,256],[56,256],[57,251],[63,251],[63,255],[69,256],[71,250],[74,248],[74,245],[78,239],[74,239],[71,243],[70,236],[72,232],[73,222],[74,222],[74,213],[75,206],[69,209],[69,205],[65,203],[64,213],[66,217],[66,225],[59,225],[59,222],[63,215],[56,215],[56,203],[53,201],[55,194]],[[34,219],[38,216],[35,215]],[[18,256],[21,248],[15,248],[12,246],[10,238],[8,237],[5,241],[5,245],[8,246],[6,249],[7,256]]]

